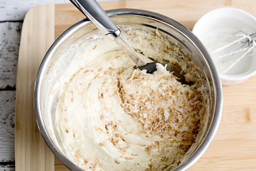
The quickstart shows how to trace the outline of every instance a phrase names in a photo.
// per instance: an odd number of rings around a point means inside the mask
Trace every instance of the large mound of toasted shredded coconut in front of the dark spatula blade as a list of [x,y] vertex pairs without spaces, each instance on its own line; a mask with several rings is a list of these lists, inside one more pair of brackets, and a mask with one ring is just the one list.
[[194,86],[177,81],[161,64],[157,68],[154,74],[136,69],[118,76],[122,106],[141,125],[140,132],[163,138],[162,150],[175,147],[182,155],[195,142],[206,99]]

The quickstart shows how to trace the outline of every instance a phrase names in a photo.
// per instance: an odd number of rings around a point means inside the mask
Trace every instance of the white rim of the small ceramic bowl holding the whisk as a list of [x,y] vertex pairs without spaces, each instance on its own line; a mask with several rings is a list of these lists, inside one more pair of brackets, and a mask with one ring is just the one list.
[[[208,18],[211,18],[211,14],[216,13],[218,11],[232,11],[233,13],[244,14],[244,15],[246,15],[246,17],[251,18],[252,20],[255,20],[255,22],[256,22],[256,17],[253,16],[252,14],[250,14],[249,12],[246,12],[242,9],[238,9],[238,8],[234,8],[234,7],[221,7],[221,8],[216,8],[211,11],[208,11],[206,14],[201,16],[199,18],[199,20],[197,20],[197,22],[195,23],[195,25],[192,29],[192,33],[196,34],[197,30],[202,28],[203,20],[207,20]],[[227,74],[222,74],[222,73],[220,73],[219,75],[220,75],[221,79],[227,80],[227,81],[234,81],[234,84],[236,84],[236,83],[241,83],[241,81],[245,81],[246,79],[248,79],[249,77],[252,77],[255,74],[256,74],[256,69],[251,72],[246,71],[244,73],[237,74],[237,75],[227,75]],[[239,81],[239,82],[237,82],[237,81]]]

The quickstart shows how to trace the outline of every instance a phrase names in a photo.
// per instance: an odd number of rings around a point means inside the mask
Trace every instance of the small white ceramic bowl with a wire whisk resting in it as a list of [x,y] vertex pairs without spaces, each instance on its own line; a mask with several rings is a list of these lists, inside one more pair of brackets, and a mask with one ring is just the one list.
[[[247,34],[256,32],[256,18],[237,8],[218,8],[204,14],[193,27],[192,32],[207,45],[206,38],[233,34],[244,30]],[[232,49],[236,50],[236,49]],[[223,51],[223,53],[226,53]],[[233,85],[256,74],[256,52],[244,57],[225,74],[220,73],[222,85]]]

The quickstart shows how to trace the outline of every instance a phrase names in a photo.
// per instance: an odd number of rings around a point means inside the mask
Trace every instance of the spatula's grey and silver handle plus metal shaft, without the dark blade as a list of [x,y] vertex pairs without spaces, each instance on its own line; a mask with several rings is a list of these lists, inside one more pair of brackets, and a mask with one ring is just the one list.
[[96,0],[70,0],[109,40],[118,46],[137,64],[144,66],[147,63],[121,37],[121,31],[109,18]]

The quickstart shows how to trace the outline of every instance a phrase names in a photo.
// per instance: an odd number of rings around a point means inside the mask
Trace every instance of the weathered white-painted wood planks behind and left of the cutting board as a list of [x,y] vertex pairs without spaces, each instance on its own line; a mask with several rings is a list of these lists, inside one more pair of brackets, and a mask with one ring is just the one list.
[[15,170],[15,92],[23,19],[30,8],[52,3],[69,0],[0,0],[0,171]]

